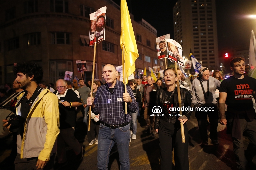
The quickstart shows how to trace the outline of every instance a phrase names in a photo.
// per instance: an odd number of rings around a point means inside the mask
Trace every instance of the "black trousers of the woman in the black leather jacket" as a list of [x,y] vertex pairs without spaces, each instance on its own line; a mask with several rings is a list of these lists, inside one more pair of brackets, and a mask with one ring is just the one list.
[[172,170],[173,152],[175,169],[189,170],[188,162],[188,127],[184,124],[186,143],[182,143],[180,122],[169,123],[163,120],[159,122],[159,146],[160,146],[160,167],[161,170]]

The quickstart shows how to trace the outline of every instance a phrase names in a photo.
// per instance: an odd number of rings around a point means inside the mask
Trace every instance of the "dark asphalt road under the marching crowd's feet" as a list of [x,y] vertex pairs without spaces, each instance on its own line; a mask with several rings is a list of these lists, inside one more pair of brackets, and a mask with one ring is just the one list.
[[[230,135],[226,134],[226,126],[218,125],[219,146],[211,144],[209,139],[208,147],[202,147],[197,120],[194,112],[191,119],[187,122],[189,130],[189,166],[191,170],[236,170],[235,155],[233,152],[233,143]],[[75,136],[80,144],[84,146],[84,157],[80,162],[74,160],[75,154],[70,147],[67,146],[68,165],[63,167],[63,170],[82,170],[82,169],[97,169],[97,144],[89,146],[87,135],[82,126],[82,114],[78,113],[77,126]],[[137,139],[132,140],[129,149],[130,165],[134,170],[158,170],[160,169],[159,160],[159,139],[158,135],[155,139],[151,135],[146,134],[146,123],[143,118],[138,119],[137,124]],[[208,126],[209,130],[209,126]],[[209,131],[208,131],[209,132]],[[208,133],[209,135],[209,133]],[[6,158],[11,152],[12,137],[1,140],[0,149],[0,169],[13,169],[13,164],[6,166]],[[247,148],[249,140],[245,138],[245,148]],[[170,148],[171,151],[171,148]],[[247,152],[249,152],[248,149]],[[247,153],[246,152],[246,153]],[[8,158],[7,158],[8,159]],[[173,159],[173,169],[175,169]],[[118,152],[111,152],[109,169],[120,169]],[[250,169],[256,169],[256,156],[253,158],[253,163],[250,164]]]

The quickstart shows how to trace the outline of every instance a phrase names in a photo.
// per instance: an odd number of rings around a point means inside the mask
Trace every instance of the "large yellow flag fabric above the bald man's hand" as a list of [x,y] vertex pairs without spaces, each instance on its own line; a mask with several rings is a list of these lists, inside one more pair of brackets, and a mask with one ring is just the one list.
[[135,60],[139,57],[139,53],[126,1],[121,1],[121,27],[120,44],[125,52],[125,54],[123,54],[125,62],[125,67],[123,62],[123,74],[125,74],[126,77],[126,79],[123,79],[123,82],[124,84],[127,84],[128,77],[136,70]]

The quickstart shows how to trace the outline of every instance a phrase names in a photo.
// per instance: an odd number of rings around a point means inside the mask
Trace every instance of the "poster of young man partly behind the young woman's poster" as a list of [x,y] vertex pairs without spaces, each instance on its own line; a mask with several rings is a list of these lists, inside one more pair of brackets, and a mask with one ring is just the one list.
[[170,34],[163,35],[156,38],[156,49],[158,60],[163,58],[168,58],[168,47],[166,38],[170,38]]

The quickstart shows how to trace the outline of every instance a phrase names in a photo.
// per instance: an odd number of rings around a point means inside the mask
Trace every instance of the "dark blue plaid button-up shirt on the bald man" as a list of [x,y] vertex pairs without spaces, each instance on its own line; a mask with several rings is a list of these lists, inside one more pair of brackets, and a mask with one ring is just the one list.
[[[123,82],[116,80],[112,94],[110,93],[107,84],[99,87],[94,99],[95,106],[92,111],[95,115],[100,114],[101,122],[109,125],[120,125],[132,120],[130,111],[133,113],[137,111],[137,102],[131,87],[129,85],[126,85],[126,87],[127,93],[129,93],[132,98],[132,102],[127,103],[127,114],[125,114],[125,102],[123,101]],[[110,99],[110,103],[108,103],[108,99]],[[120,101],[121,99],[122,101]]]

